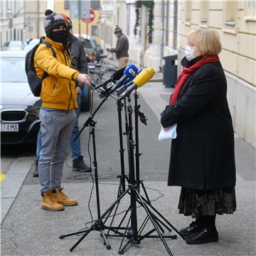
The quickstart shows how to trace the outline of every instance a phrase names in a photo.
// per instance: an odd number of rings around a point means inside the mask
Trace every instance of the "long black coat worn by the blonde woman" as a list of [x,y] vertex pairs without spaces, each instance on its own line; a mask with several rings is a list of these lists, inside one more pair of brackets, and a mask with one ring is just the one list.
[[[189,63],[188,67],[202,57]],[[218,63],[207,63],[184,83],[178,101],[166,106],[161,124],[177,123],[171,142],[169,186],[209,190],[235,186],[233,124],[226,98],[227,82]]]

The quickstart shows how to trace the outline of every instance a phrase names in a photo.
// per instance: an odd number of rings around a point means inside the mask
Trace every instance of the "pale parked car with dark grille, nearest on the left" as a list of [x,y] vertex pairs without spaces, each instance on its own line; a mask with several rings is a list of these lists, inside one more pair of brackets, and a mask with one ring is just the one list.
[[27,51],[0,52],[1,144],[36,142],[40,129],[40,97],[34,97],[25,73]]

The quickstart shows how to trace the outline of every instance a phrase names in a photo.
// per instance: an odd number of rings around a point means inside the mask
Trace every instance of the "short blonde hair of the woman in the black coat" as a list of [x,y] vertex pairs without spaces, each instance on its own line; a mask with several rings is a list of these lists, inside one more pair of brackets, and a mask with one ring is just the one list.
[[218,32],[210,28],[198,28],[188,33],[188,38],[203,55],[218,55],[221,51],[220,36]]

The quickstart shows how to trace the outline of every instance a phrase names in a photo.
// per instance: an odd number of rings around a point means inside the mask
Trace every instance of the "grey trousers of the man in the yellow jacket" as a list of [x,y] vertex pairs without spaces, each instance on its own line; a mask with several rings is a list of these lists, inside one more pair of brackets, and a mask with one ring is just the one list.
[[63,164],[75,125],[75,110],[40,110],[42,146],[38,161],[41,193],[61,187]]

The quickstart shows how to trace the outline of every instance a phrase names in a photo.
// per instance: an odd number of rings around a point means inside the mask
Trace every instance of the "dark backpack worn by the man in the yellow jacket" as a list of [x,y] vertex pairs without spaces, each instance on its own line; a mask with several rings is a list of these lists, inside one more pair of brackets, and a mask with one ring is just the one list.
[[53,50],[53,46],[51,46],[50,43],[46,42],[43,37],[40,38],[40,42],[36,46],[34,46],[31,50],[29,50],[28,53],[26,54],[25,70],[28,78],[28,85],[31,88],[31,92],[33,92],[33,95],[36,97],[40,97],[42,82],[49,75],[47,72],[44,72],[42,79],[38,78],[38,76],[36,75],[33,59],[34,59],[36,50],[41,43],[45,44],[47,48],[50,48],[50,50],[53,53],[53,57],[56,58],[56,53]]

